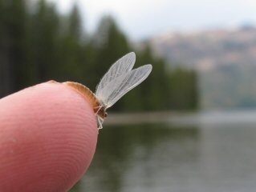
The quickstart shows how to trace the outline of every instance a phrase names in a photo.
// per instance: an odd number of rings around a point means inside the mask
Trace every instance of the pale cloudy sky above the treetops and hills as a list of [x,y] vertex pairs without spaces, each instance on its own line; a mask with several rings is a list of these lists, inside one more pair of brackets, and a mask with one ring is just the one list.
[[256,24],[256,0],[48,0],[66,13],[77,2],[88,31],[111,14],[132,40],[168,32]]

